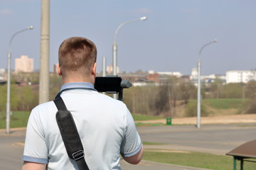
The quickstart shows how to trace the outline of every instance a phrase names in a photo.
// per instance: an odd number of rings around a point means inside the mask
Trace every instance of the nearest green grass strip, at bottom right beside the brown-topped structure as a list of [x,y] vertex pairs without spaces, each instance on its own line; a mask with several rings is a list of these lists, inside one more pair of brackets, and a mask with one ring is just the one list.
[[[151,162],[192,166],[203,169],[233,169],[233,157],[201,152],[149,152],[144,150],[143,159]],[[237,162],[237,169],[240,169],[240,162]],[[255,170],[256,164],[252,162],[244,162],[244,169]]]

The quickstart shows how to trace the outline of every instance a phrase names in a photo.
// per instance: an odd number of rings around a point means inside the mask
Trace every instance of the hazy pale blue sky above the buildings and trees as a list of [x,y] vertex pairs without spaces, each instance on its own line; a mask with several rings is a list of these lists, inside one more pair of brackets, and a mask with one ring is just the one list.
[[[117,34],[117,65],[120,72],[181,72],[197,67],[203,48],[201,74],[225,74],[228,70],[256,68],[255,0],[50,0],[50,71],[58,62],[63,40],[82,36],[97,46],[97,72],[102,58],[112,64],[114,31]],[[11,68],[21,55],[40,66],[41,1],[0,0],[0,68],[7,67],[9,40]]]

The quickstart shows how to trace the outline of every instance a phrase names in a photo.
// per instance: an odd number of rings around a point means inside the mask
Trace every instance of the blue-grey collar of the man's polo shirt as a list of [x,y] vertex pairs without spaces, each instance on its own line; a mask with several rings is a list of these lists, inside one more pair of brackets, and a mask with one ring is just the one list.
[[63,84],[60,88],[60,92],[55,96],[55,98],[58,98],[60,94],[68,89],[89,89],[96,91],[94,89],[94,86],[91,83],[88,82],[75,82],[75,83],[68,83],[68,84]]

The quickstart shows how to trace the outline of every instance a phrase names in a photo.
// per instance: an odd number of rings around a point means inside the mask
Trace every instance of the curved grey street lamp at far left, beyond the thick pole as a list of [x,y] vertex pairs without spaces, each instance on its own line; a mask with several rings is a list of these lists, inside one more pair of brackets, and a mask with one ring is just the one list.
[[32,30],[33,26],[29,26],[26,29],[19,30],[11,36],[9,41],[9,50],[7,57],[7,100],[6,100],[6,133],[10,133],[10,114],[11,114],[11,104],[10,104],[10,91],[11,91],[11,41],[14,39],[15,35],[22,33],[26,30]]

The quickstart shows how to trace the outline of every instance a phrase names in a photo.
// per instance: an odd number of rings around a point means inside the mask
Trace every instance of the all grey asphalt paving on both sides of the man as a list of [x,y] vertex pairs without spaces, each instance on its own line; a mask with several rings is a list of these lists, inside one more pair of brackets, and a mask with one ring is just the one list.
[[[144,142],[159,142],[166,145],[146,145],[145,149],[178,149],[197,152],[222,154],[256,138],[255,124],[202,125],[197,129],[194,125],[171,125],[159,127],[137,128]],[[6,135],[0,130],[0,170],[21,169],[25,130],[13,130]],[[143,161],[139,165],[121,162],[123,170],[192,170],[195,168]]]

